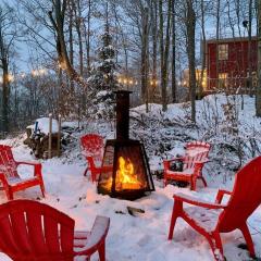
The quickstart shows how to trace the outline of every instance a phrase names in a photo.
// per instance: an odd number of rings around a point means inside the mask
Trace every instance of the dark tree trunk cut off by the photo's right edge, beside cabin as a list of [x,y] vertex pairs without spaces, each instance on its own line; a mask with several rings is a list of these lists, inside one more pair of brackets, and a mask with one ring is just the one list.
[[258,87],[256,97],[257,116],[261,116],[261,0],[258,0]]

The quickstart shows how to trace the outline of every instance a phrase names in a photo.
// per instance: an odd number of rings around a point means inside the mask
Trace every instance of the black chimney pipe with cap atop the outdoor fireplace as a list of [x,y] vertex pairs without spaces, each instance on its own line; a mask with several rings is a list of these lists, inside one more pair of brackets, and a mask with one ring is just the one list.
[[116,139],[128,139],[129,133],[129,95],[133,91],[117,90],[116,95]]

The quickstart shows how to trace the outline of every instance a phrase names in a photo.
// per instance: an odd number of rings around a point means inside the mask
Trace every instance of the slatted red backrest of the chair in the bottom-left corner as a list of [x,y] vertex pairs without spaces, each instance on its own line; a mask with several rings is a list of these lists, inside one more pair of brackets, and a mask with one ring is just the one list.
[[0,250],[13,260],[72,260],[74,220],[50,206],[13,200],[0,206]]

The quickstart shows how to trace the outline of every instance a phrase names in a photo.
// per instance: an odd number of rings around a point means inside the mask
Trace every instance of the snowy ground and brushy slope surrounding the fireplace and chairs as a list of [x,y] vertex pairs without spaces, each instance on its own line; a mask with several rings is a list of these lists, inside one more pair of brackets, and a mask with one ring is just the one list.
[[[145,142],[150,166],[161,172],[162,159],[182,153],[185,142],[202,139],[212,144],[211,162],[203,169],[208,188],[198,186],[197,191],[173,185],[163,187],[154,175],[156,191],[136,201],[113,199],[98,195],[96,185],[83,176],[86,161],[80,154],[78,138],[85,133],[98,132],[113,137],[113,126],[92,124],[82,133],[75,133],[75,141],[61,158],[41,161],[47,196],[40,198],[38,187],[15,194],[15,198],[37,199],[69,214],[76,221],[76,228],[90,229],[96,215],[107,215],[111,226],[107,240],[108,261],[209,261],[213,260],[208,241],[192,231],[183,220],[177,221],[174,239],[167,240],[173,194],[183,192],[213,202],[217,188],[232,189],[234,173],[241,164],[259,154],[261,149],[261,120],[254,116],[254,99],[244,97],[209,96],[197,101],[197,125],[189,120],[189,105],[172,104],[163,113],[161,107],[150,105],[132,110],[130,136]],[[226,105],[232,104],[231,114]],[[235,117],[229,125],[227,117]],[[16,160],[35,160],[24,137],[0,140],[14,147]],[[32,170],[21,167],[21,175]],[[40,199],[39,199],[40,198]],[[1,191],[0,202],[7,198]],[[142,209],[145,213],[132,215],[127,207]],[[261,207],[248,220],[254,248],[261,258]],[[249,260],[247,250],[238,248],[245,243],[240,232],[222,235],[224,253],[229,261]],[[0,256],[0,260],[10,260]],[[78,259],[80,260],[80,259]],[[91,260],[98,260],[98,256]]]

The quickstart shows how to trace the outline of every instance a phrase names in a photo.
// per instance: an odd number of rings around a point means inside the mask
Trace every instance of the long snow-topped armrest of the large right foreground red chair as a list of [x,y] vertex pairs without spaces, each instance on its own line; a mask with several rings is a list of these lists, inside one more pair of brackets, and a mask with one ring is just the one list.
[[219,203],[211,203],[209,201],[189,197],[185,194],[175,194],[173,196],[174,200],[179,200],[189,204],[207,208],[207,209],[224,209],[226,206],[225,204],[219,204]]

